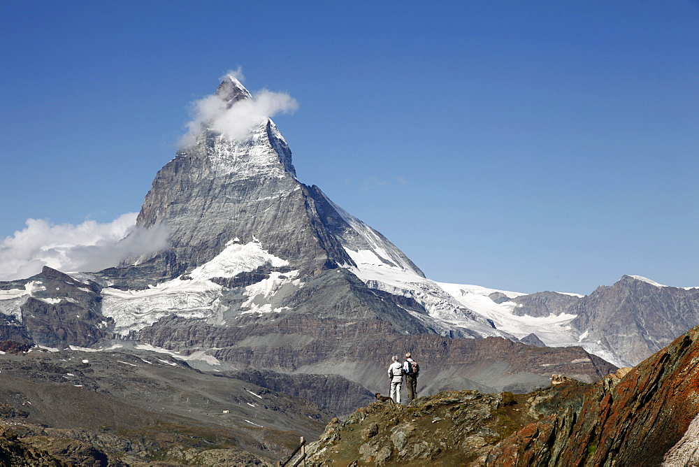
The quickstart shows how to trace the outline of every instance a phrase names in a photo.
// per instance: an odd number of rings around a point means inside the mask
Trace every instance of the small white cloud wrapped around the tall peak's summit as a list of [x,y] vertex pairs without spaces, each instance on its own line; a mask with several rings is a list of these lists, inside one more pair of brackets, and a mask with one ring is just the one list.
[[[240,68],[229,71],[223,80],[233,80],[240,84],[243,72]],[[242,85],[240,85],[242,86]],[[202,124],[217,131],[231,140],[247,137],[252,129],[278,113],[290,113],[298,108],[296,99],[283,92],[271,92],[262,89],[252,94],[250,99],[229,103],[217,94],[211,94],[192,103],[193,119],[187,124],[187,134],[180,138],[180,147],[194,145],[196,136],[201,132]]]

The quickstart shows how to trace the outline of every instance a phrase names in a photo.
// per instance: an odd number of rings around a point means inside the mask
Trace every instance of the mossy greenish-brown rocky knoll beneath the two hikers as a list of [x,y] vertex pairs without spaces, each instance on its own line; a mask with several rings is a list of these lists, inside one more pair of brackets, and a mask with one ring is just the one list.
[[531,421],[520,404],[513,394],[478,391],[446,391],[408,406],[375,402],[331,421],[308,447],[307,464],[466,465],[503,431]]

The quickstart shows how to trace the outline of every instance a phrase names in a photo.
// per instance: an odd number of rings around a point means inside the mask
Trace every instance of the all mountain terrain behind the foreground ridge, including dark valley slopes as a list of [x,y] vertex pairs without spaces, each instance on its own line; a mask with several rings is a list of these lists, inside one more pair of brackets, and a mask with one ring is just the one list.
[[[235,109],[255,98],[228,76],[212,99]],[[419,361],[421,396],[521,394],[552,374],[598,381],[699,324],[698,289],[632,276],[589,296],[434,282],[299,182],[270,119],[241,138],[199,130],[157,173],[131,234],[164,231],[168,247],[0,282],[0,343],[13,349],[0,355],[0,395],[27,449],[48,437],[58,461],[70,439],[110,465],[264,464],[387,393],[394,354]],[[75,404],[52,410],[56,387]],[[136,408],[138,422],[107,416]]]

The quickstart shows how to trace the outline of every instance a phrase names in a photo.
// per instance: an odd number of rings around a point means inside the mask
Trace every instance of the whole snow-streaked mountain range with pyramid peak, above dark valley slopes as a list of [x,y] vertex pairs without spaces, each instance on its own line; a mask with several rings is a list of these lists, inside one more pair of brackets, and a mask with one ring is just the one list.
[[[234,109],[254,96],[229,77],[212,99]],[[605,303],[622,292],[524,295],[429,280],[382,234],[299,182],[289,146],[266,117],[243,138],[201,122],[192,145],[157,173],[137,226],[167,229],[169,246],[99,273],[45,268],[0,284],[0,340],[132,341],[224,369],[334,373],[372,392],[382,390],[389,357],[411,350],[424,363],[422,389],[526,390],[547,385],[551,373],[595,379],[610,366],[579,348],[524,343],[584,345],[626,364],[699,321],[692,291],[683,302],[695,307],[691,316],[663,333],[644,308],[644,323],[656,327],[642,327],[641,348],[626,335],[633,330],[609,321],[617,308]],[[626,282],[614,287],[678,303],[671,287]],[[637,311],[624,310],[627,321]]]

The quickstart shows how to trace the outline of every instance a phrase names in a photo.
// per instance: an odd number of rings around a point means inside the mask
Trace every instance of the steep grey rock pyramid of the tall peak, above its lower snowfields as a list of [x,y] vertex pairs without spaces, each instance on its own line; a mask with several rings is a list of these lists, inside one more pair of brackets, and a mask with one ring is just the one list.
[[[216,95],[229,107],[252,99],[232,77]],[[259,241],[292,269],[300,268],[301,275],[354,264],[343,241],[366,246],[320,189],[296,180],[291,150],[271,120],[261,122],[243,141],[203,125],[196,143],[179,150],[159,171],[145,197],[137,226],[161,223],[171,230],[171,249],[157,260],[171,278],[210,261],[236,238],[241,244]],[[340,232],[345,235],[338,236]],[[383,237],[382,246],[389,256],[419,271]],[[149,260],[140,258],[140,264]]]

